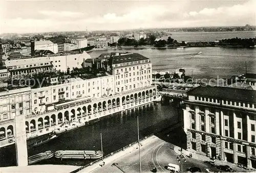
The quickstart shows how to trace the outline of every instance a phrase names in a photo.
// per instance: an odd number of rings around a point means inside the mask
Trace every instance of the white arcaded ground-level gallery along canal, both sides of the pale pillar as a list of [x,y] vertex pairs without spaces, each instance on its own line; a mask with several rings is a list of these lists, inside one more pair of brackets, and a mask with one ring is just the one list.
[[[29,130],[26,131],[26,137],[27,139],[31,139],[52,133],[63,125],[66,118],[69,119],[70,122],[79,122],[79,127],[84,126],[91,120],[99,119],[103,116],[108,116],[117,112],[151,103],[154,101],[155,96],[156,86],[148,86],[128,92],[114,94],[108,97],[101,97],[97,99],[93,98],[90,102],[84,104],[81,104],[80,102],[73,104],[66,109],[62,108],[62,110],[55,109],[44,114],[29,115],[25,120],[26,126],[29,127]],[[119,105],[117,103],[118,101]],[[105,109],[103,106],[104,104]],[[91,111],[89,108],[91,108]],[[59,119],[62,120],[60,121]],[[39,124],[42,124],[42,126],[39,126]],[[35,128],[32,129],[30,127],[31,125],[33,125]],[[10,126],[14,127],[13,120],[8,120],[7,123],[1,125],[1,128],[3,127],[8,129]],[[15,131],[14,128],[13,131]],[[8,137],[5,140],[0,141],[0,147],[14,143],[14,136]]]

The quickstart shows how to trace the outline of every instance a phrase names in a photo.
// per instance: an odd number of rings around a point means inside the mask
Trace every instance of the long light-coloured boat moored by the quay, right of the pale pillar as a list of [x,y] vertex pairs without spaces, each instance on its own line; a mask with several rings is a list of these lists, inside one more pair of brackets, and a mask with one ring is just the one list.
[[103,153],[101,151],[80,151],[80,150],[59,150],[54,153],[60,159],[99,159]]

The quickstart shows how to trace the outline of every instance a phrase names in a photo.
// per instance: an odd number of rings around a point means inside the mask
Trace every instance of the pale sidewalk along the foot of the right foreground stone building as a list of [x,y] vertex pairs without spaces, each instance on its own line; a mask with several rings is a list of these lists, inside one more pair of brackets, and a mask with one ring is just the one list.
[[[209,157],[207,156],[203,156],[203,155],[200,155],[198,153],[195,153],[195,151],[193,150],[184,150],[182,149],[182,152],[181,152],[181,148],[179,146],[176,146],[174,145],[174,152],[177,154],[177,155],[184,155],[186,158],[188,158],[189,154],[191,153],[192,154],[192,159],[195,159],[195,160],[199,160],[199,161],[202,161],[202,162],[211,162],[213,163],[212,160],[210,160]],[[234,164],[234,163],[230,163],[230,162],[227,162],[227,161],[221,161],[221,160],[217,160],[215,159],[215,164],[216,165],[228,165],[230,166],[234,171],[238,171],[238,172],[249,172],[249,171],[255,171],[255,169],[249,169],[249,170],[246,170],[246,169],[243,169],[243,168],[240,168],[237,166],[237,164]]]

